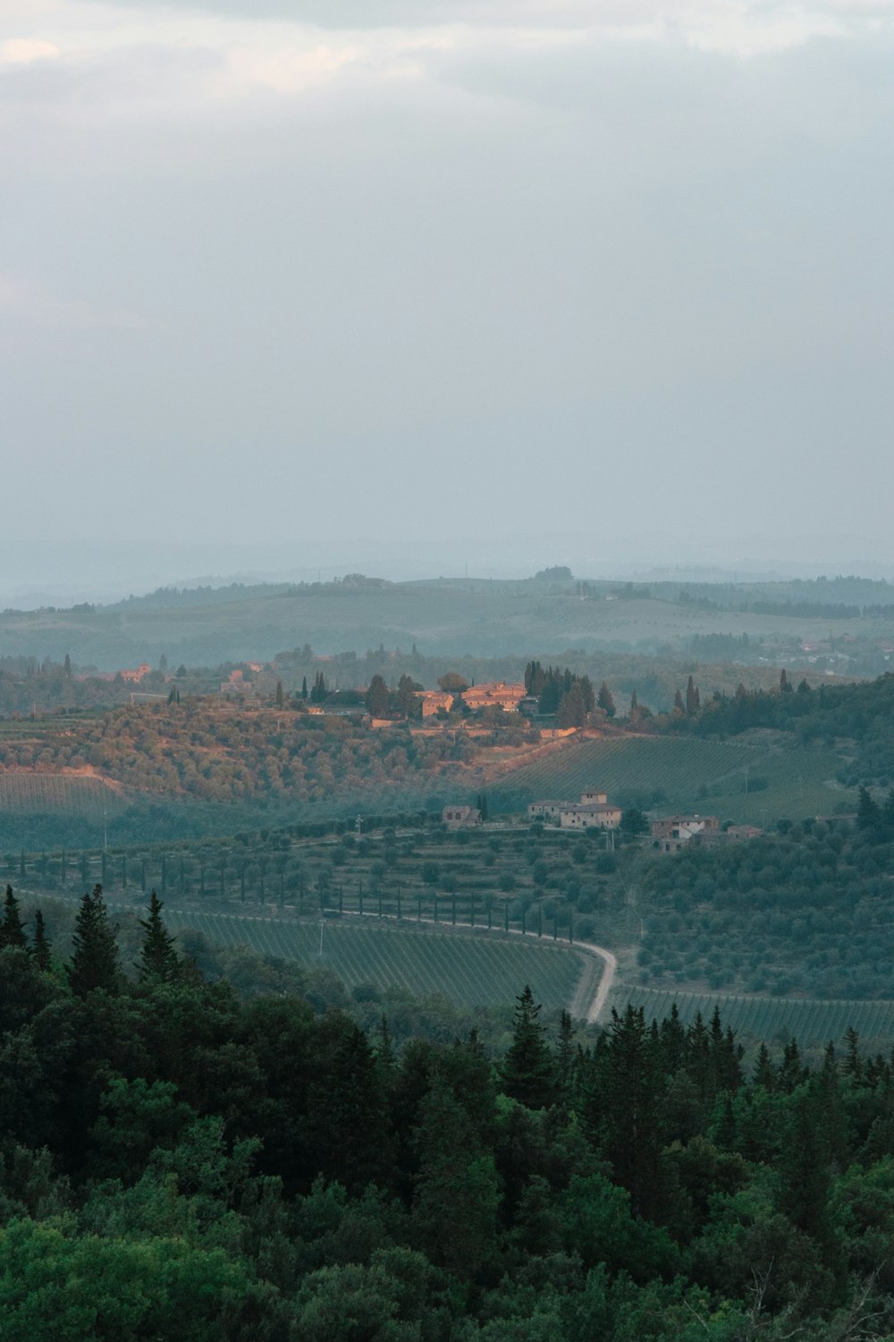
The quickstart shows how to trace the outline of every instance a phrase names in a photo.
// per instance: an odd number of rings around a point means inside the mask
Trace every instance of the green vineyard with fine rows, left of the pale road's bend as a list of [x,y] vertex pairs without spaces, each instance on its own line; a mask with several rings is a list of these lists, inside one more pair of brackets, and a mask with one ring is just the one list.
[[[172,931],[188,927],[224,946],[323,964],[347,988],[375,984],[414,994],[438,993],[462,1007],[511,1002],[525,984],[546,1008],[567,1007],[587,962],[583,953],[547,941],[397,929],[332,919],[284,923],[271,918],[165,911]],[[323,951],[320,956],[320,942]]]

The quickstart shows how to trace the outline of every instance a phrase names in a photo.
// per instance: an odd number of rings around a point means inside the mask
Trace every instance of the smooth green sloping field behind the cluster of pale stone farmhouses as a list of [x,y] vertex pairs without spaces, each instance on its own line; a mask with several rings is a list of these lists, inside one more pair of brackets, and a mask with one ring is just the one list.
[[508,774],[489,796],[493,809],[511,811],[539,797],[574,800],[584,788],[600,786],[610,797],[642,793],[646,805],[661,793],[666,800],[657,811],[761,824],[765,817],[855,809],[854,793],[826,782],[838,765],[830,750],[780,747],[775,735],[748,742],[618,737],[574,741]]

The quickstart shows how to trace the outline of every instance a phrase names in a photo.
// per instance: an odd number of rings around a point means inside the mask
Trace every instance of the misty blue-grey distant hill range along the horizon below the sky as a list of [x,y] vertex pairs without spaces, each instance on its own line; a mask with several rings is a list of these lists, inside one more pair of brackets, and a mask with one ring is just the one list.
[[[283,648],[505,656],[686,650],[693,639],[894,637],[894,588],[862,578],[751,586],[587,582],[548,574],[517,581],[339,582],[161,589],[110,607],[5,611],[0,656],[66,654],[101,670],[268,660]],[[735,607],[735,608],[733,608]],[[871,613],[865,609],[871,607]],[[878,670],[871,667],[869,670]]]

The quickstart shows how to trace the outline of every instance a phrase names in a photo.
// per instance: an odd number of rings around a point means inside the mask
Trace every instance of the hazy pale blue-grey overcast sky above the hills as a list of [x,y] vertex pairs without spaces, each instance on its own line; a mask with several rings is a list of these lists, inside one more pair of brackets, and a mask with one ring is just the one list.
[[890,558],[893,19],[0,0],[4,550]]

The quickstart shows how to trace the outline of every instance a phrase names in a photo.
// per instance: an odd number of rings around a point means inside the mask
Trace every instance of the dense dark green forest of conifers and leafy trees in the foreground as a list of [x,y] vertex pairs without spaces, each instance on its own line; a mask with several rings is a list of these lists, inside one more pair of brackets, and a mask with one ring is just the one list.
[[[595,1041],[519,992],[508,1049],[397,1048],[240,1001],[153,900],[71,958],[0,925],[9,1342],[818,1342],[894,1327],[891,1068],[851,1033],[748,1074],[714,1017]],[[579,1047],[580,1045],[580,1047]]]

